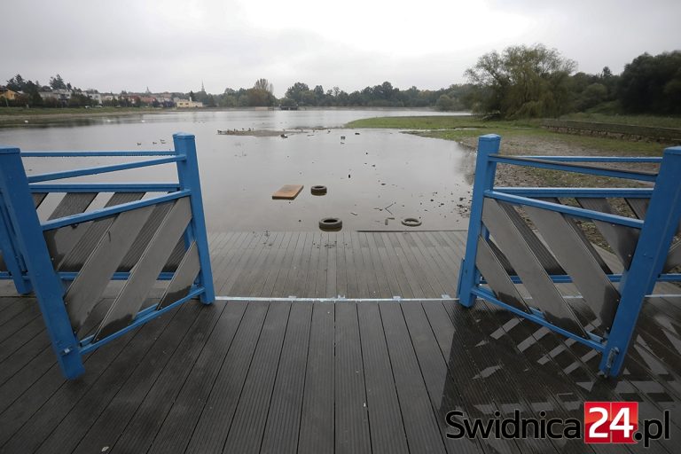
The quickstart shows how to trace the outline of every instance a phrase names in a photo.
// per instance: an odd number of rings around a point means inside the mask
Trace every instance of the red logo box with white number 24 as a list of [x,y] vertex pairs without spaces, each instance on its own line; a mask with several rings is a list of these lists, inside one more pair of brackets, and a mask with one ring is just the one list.
[[635,443],[638,402],[585,402],[584,442]]

